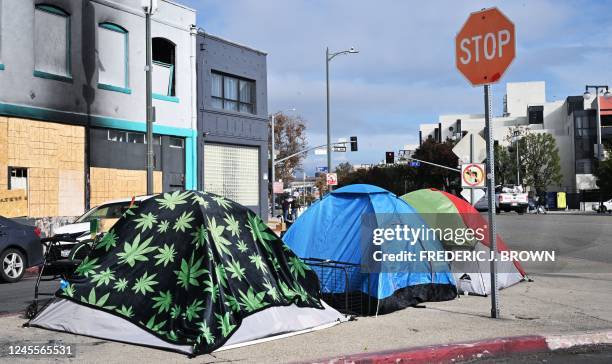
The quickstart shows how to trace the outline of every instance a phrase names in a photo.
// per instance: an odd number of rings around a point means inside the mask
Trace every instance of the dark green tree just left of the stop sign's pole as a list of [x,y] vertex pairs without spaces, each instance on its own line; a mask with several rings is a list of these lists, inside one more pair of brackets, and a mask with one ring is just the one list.
[[[433,139],[427,139],[414,152],[413,157],[423,161],[456,168],[459,163],[459,158],[453,153],[454,146],[455,142],[450,139],[447,139],[443,143],[435,142]],[[460,173],[424,163],[422,163],[417,170],[417,178],[423,187],[433,187],[445,191],[456,190],[460,187]]]

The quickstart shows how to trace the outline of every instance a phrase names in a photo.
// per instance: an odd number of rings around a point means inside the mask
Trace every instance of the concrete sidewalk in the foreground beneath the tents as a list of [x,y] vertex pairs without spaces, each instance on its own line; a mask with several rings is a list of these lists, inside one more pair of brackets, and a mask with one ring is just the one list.
[[[490,299],[463,296],[379,317],[363,317],[319,332],[202,355],[196,362],[312,362],[352,354],[402,352],[416,347],[500,337],[574,334],[612,329],[612,274],[542,275],[501,292],[502,318],[488,317]],[[9,343],[76,344],[76,358],[92,363],[194,363],[185,356],[36,328],[18,316],[0,318],[0,348]],[[0,362],[7,358],[1,356]],[[12,362],[27,362],[11,358]],[[49,360],[51,361],[51,359]],[[36,360],[37,363],[45,360]]]

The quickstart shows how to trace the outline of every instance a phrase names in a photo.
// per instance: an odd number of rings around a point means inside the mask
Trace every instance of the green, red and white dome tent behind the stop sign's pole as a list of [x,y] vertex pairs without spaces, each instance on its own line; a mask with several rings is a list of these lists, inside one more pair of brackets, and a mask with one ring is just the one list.
[[[450,193],[436,189],[421,189],[401,197],[416,211],[424,216],[430,226],[436,228],[483,228],[484,237],[471,242],[468,246],[457,246],[453,241],[445,241],[447,249],[466,249],[490,252],[489,228],[487,221],[467,201]],[[498,234],[496,237],[497,251],[509,251],[508,246]],[[489,277],[489,262],[454,262],[453,275],[457,288],[461,293],[488,295],[491,293]],[[518,261],[498,262],[498,283],[503,289],[514,285],[525,277],[525,271]]]

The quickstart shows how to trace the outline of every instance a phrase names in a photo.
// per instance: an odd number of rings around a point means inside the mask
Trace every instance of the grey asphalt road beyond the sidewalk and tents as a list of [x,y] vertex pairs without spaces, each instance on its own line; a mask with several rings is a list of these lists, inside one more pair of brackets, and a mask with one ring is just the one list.
[[[486,216],[486,213],[484,213]],[[524,262],[528,273],[572,275],[612,273],[612,215],[497,215],[499,234],[513,250],[554,250],[556,262]],[[35,278],[0,284],[0,314],[25,309],[34,295]],[[44,292],[59,282],[43,282]]]

